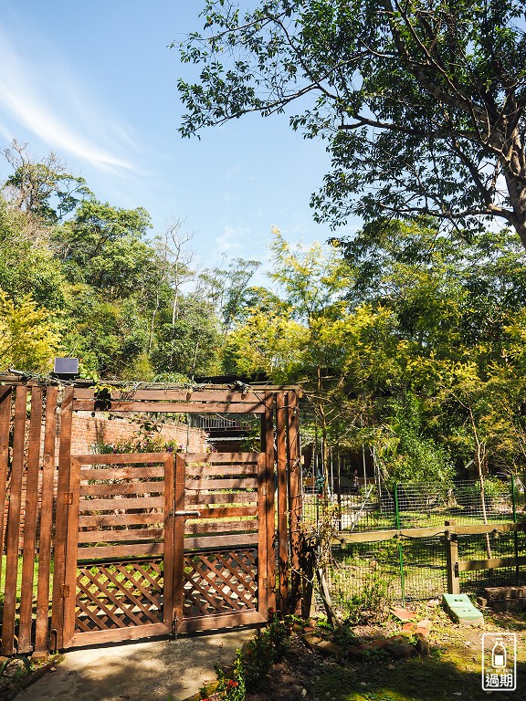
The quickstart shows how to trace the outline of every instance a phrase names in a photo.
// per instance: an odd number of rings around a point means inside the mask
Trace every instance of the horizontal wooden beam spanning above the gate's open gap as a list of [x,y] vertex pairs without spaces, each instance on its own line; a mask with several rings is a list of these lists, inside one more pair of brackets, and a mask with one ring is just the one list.
[[[260,402],[250,403],[195,403],[195,402],[121,402],[111,400],[112,412],[137,413],[263,413],[265,406]],[[73,411],[94,412],[95,403],[89,399],[73,400]],[[105,410],[106,411],[106,410]]]

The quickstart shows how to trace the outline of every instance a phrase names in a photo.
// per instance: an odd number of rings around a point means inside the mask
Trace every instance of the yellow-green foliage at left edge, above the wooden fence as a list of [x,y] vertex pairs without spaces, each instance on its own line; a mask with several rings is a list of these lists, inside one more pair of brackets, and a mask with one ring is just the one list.
[[0,371],[50,371],[59,343],[58,324],[47,309],[31,295],[15,303],[0,289]]

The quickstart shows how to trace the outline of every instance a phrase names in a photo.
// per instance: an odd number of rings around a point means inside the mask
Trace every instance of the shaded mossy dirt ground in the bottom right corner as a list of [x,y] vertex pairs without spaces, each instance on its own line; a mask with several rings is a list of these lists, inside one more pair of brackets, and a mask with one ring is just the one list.
[[[526,698],[526,616],[485,614],[480,628],[452,623],[437,603],[420,604],[419,616],[431,620],[428,656],[394,659],[384,649],[361,656],[342,654],[324,657],[295,635],[284,660],[277,664],[258,692],[247,701],[496,701]],[[362,643],[400,632],[395,620],[383,626],[354,628]],[[516,633],[517,690],[484,692],[481,687],[482,633]],[[323,634],[317,630],[316,634]],[[408,639],[408,642],[412,642]],[[356,641],[352,641],[355,648]]]

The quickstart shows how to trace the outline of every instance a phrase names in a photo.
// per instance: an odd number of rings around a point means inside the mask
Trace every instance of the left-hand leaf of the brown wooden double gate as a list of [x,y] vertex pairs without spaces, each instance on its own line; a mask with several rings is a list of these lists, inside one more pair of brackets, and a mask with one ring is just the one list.
[[174,455],[75,455],[62,502],[64,647],[170,633]]

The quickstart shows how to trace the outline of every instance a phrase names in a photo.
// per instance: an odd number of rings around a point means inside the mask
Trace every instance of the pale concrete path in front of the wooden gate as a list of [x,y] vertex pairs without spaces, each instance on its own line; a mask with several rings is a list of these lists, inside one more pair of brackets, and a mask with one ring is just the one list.
[[230,664],[252,630],[74,650],[16,701],[181,701]]

